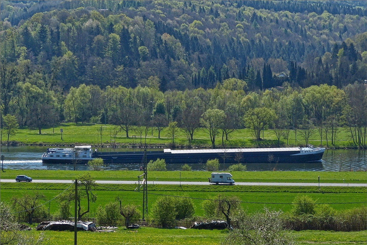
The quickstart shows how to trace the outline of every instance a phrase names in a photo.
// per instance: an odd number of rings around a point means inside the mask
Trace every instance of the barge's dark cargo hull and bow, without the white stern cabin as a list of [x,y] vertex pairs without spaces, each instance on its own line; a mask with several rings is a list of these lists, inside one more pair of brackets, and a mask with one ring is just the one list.
[[[239,149],[185,149],[147,151],[147,161],[165,159],[166,163],[206,163],[218,158],[220,162],[237,163],[303,163],[321,161],[325,148],[285,147],[285,148],[239,148]],[[94,158],[102,158],[105,163],[140,163],[144,152],[94,152]]]

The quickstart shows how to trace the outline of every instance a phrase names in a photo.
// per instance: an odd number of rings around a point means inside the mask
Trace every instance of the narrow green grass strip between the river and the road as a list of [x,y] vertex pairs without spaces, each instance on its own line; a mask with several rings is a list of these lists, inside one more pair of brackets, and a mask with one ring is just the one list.
[[[73,170],[6,170],[0,172],[2,179],[14,179],[25,174],[34,180],[72,180],[76,175],[88,171]],[[139,171],[109,170],[89,171],[95,180],[132,180],[138,181]],[[211,172],[181,171],[181,181],[208,181]],[[236,182],[294,182],[294,183],[366,183],[366,172],[314,172],[314,171],[233,171]],[[148,180],[180,181],[180,171],[148,172]]]

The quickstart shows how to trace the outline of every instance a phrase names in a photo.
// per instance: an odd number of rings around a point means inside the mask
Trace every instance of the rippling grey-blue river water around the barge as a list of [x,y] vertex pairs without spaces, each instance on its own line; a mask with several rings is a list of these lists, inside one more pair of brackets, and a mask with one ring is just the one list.
[[[52,146],[54,148],[54,146]],[[3,166],[6,169],[50,169],[50,170],[73,170],[71,164],[50,164],[42,163],[41,155],[46,151],[47,146],[1,146],[1,155],[5,156]],[[143,148],[98,148],[98,151],[143,151]],[[162,148],[148,148],[148,151],[162,151]],[[140,162],[141,160],[139,159]],[[321,162],[310,163],[248,163],[247,170],[264,171],[366,171],[367,170],[366,150],[359,149],[327,149],[324,152]],[[245,162],[246,164],[246,162]],[[193,170],[204,169],[203,164],[190,164]],[[107,164],[105,170],[137,170],[137,164]],[[229,165],[220,169],[226,169]],[[169,164],[168,170],[178,170],[181,164]],[[88,170],[87,165],[77,165],[77,170]]]

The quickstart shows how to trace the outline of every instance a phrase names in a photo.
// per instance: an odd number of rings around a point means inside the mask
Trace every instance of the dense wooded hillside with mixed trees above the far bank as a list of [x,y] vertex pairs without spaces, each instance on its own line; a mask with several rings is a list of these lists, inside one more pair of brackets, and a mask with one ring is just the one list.
[[20,126],[102,122],[128,136],[177,121],[192,138],[216,117],[225,136],[246,126],[333,139],[345,126],[366,145],[364,1],[0,4],[1,114]]

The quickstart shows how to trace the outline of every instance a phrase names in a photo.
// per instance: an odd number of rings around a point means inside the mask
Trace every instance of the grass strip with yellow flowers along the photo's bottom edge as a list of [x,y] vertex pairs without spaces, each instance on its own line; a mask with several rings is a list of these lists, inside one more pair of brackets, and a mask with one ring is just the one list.
[[[27,231],[28,232],[28,231]],[[30,231],[36,236],[40,231]],[[118,229],[114,233],[92,233],[78,231],[77,243],[83,244],[128,244],[128,245],[178,245],[203,244],[219,245],[225,238],[227,230],[195,230],[195,229],[160,229],[143,227],[137,232]],[[46,231],[48,244],[74,244],[74,233],[71,231]],[[293,231],[294,241],[299,245],[310,244],[366,244],[366,231],[334,232],[334,231]]]

